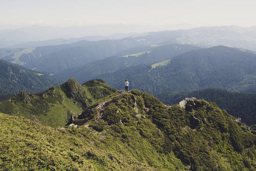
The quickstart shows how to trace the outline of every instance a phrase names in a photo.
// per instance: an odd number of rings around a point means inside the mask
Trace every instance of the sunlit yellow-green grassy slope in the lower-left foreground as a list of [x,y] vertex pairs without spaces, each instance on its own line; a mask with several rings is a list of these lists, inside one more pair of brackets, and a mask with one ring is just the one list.
[[119,128],[133,137],[128,144],[123,139],[116,139],[114,132],[111,135],[87,127],[54,129],[3,113],[0,118],[0,168],[4,170],[183,168],[173,154],[157,153],[151,143],[140,136],[139,130],[131,132],[129,128]]

